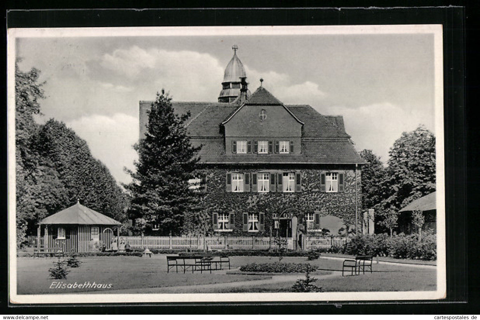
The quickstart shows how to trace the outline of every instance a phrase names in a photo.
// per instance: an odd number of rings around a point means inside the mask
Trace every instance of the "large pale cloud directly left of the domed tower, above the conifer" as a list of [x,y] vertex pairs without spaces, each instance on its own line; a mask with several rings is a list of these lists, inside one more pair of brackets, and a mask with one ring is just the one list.
[[123,86],[142,88],[144,100],[165,88],[175,100],[215,101],[225,68],[209,54],[138,46],[104,54],[98,63],[105,82],[121,79]]

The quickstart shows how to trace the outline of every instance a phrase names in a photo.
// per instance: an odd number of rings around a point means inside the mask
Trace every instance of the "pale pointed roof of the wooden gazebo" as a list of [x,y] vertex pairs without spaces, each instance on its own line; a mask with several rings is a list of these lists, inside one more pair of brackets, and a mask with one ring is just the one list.
[[43,225],[103,225],[118,226],[120,222],[110,217],[102,215],[86,206],[82,206],[80,202],[68,207],[56,214],[53,214],[41,220],[39,224]]

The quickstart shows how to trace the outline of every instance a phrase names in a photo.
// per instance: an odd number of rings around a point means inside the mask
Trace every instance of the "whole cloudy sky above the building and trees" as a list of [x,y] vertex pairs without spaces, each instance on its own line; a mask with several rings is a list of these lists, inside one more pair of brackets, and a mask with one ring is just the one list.
[[233,44],[252,92],[263,78],[283,103],[343,115],[358,151],[386,161],[402,132],[435,129],[433,34],[114,35],[17,38],[16,56],[46,81],[39,121],[72,127],[118,182],[136,159],[138,102],[162,88],[216,102]]

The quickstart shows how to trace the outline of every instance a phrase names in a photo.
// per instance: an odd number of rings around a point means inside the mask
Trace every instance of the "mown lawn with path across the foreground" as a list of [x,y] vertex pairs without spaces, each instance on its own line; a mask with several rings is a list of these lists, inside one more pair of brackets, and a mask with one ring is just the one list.
[[[18,294],[54,294],[54,293],[135,293],[138,292],[170,292],[170,293],[196,293],[196,292],[288,292],[295,283],[290,276],[285,281],[270,283],[270,275],[242,274],[232,270],[214,271],[212,274],[195,272],[167,273],[165,255],[156,254],[152,258],[144,257],[81,257],[79,268],[70,269],[66,280],[50,279],[48,269],[56,258],[17,258]],[[247,263],[278,262],[278,257],[242,256],[231,257],[232,269],[237,269]],[[282,263],[312,263],[318,270],[312,275],[322,277],[330,274],[325,279],[319,279],[317,286],[323,287],[327,292],[340,291],[423,291],[435,290],[436,269],[434,266],[415,267],[410,265],[373,264],[373,274],[359,276],[332,277],[332,271],[341,271],[341,259],[320,258],[307,261],[306,257],[285,257]],[[278,274],[276,274],[278,275]],[[280,274],[281,275],[281,274]],[[302,274],[298,274],[302,276]],[[266,281],[256,281],[266,280]],[[253,281],[250,285],[246,281]],[[84,288],[50,288],[53,282],[64,284],[84,284],[85,282],[109,285],[110,288],[84,289]],[[226,285],[204,286],[209,284],[243,282],[241,286]],[[273,282],[273,281],[272,281]],[[113,291],[112,291],[113,290]],[[122,291],[123,290],[123,291]]]

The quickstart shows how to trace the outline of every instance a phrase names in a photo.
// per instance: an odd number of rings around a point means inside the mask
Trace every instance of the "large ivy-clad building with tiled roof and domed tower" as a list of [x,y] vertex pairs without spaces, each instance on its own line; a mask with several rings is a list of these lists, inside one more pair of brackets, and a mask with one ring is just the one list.
[[[218,102],[172,102],[200,151],[207,232],[282,236],[361,226],[360,165],[343,117],[283,104],[263,86],[248,89],[235,53]],[[263,80],[261,80],[263,81]],[[146,111],[140,102],[140,133]],[[360,227],[361,228],[361,227]]]

